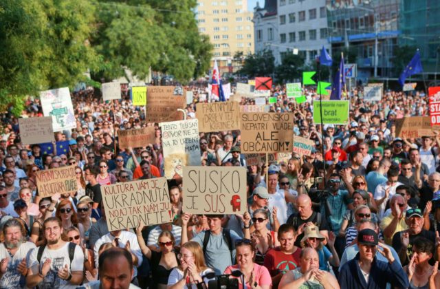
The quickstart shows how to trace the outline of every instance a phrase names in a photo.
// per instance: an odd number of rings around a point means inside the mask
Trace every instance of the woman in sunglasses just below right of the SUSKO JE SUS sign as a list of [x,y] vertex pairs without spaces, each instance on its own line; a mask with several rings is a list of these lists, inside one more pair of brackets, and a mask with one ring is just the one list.
[[252,242],[255,246],[255,263],[263,265],[265,254],[271,248],[280,246],[276,232],[267,229],[269,215],[264,208],[254,211],[252,223],[255,231],[251,235]]

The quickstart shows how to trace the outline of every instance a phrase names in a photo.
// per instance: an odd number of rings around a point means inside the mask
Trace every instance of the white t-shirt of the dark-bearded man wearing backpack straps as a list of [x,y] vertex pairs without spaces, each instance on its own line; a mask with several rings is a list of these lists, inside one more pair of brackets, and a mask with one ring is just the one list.
[[69,242],[56,250],[50,250],[46,246],[43,251],[43,255],[41,255],[40,264],[38,263],[36,257],[39,252],[39,247],[34,248],[32,253],[30,253],[28,268],[32,268],[32,272],[34,274],[38,274],[46,259],[51,259],[50,270],[47,272],[46,277],[39,283],[40,289],[54,289],[54,288],[63,288],[63,289],[75,289],[78,285],[74,285],[69,283],[69,281],[65,281],[58,277],[58,270],[63,268],[66,264],[69,267],[69,272],[72,274],[72,271],[81,271],[84,269],[84,253],[81,250],[80,246],[75,246],[75,254],[74,259],[72,260],[72,264],[69,259]]

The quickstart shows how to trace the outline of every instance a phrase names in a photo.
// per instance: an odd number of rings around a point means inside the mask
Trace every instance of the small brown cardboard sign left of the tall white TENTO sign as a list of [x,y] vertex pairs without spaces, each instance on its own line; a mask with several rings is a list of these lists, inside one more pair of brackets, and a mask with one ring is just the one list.
[[145,147],[148,144],[154,144],[156,140],[154,127],[125,130],[120,129],[118,131],[118,137],[120,149]]

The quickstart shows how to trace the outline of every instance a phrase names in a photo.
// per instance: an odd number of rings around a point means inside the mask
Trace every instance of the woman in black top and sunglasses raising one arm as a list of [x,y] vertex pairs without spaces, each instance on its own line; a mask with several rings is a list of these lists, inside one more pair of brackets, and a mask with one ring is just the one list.
[[143,225],[137,227],[136,236],[142,254],[150,261],[151,276],[153,277],[151,280],[153,287],[151,288],[165,289],[171,271],[179,266],[179,259],[173,250],[175,245],[174,236],[170,231],[162,231],[157,239],[159,252],[155,252],[146,246],[144,237],[142,236],[143,228]]

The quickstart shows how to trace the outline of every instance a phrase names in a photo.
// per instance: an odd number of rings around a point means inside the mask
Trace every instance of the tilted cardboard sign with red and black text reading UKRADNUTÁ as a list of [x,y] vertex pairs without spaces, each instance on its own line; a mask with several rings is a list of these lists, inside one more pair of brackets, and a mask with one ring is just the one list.
[[101,186],[109,231],[173,222],[166,178]]

